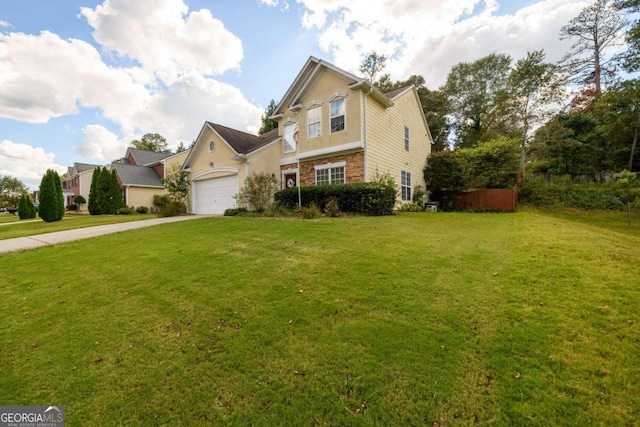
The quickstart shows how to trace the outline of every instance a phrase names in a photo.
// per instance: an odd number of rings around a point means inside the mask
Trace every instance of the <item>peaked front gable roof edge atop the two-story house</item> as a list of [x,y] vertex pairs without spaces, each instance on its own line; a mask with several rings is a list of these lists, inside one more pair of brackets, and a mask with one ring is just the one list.
[[383,94],[377,87],[371,84],[367,79],[357,77],[341,68],[336,67],[333,64],[328,63],[322,59],[310,56],[302,70],[298,73],[295,80],[289,86],[289,89],[284,94],[276,111],[271,116],[276,118],[283,114],[285,110],[299,104],[301,98],[310,88],[314,80],[320,75],[322,71],[328,70],[340,77],[342,77],[352,90],[362,90],[368,95],[371,95],[373,99],[378,101],[384,107],[390,107],[393,105],[393,101]]

